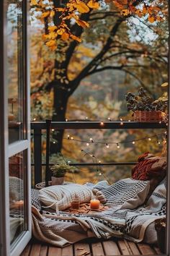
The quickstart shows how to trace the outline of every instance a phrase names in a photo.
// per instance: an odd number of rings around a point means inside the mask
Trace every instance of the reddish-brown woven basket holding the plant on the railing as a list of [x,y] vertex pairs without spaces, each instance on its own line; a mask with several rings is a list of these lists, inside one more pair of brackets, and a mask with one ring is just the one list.
[[135,111],[134,121],[161,121],[161,111]]

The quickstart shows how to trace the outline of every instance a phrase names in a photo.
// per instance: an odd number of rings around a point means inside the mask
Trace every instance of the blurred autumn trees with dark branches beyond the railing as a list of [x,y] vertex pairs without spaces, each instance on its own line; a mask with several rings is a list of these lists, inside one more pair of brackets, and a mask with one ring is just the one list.
[[[151,2],[148,1],[148,4]],[[66,3],[61,1],[58,5],[58,1],[54,1],[57,8],[66,6]],[[81,43],[72,38],[58,38],[55,51],[45,46],[42,40],[44,30],[48,29],[45,27],[47,21],[45,18],[36,20],[36,10],[32,11],[32,120],[86,120],[86,117],[90,120],[107,120],[108,117],[112,120],[128,120],[132,119],[125,103],[128,91],[135,92],[143,86],[154,98],[162,94],[161,84],[168,80],[168,2],[158,1],[158,7],[165,14],[161,22],[148,21],[147,15],[124,16],[117,11],[114,2],[102,3],[99,9],[81,14],[81,20],[89,23],[86,29],[73,18],[67,21],[71,33],[81,38]],[[56,25],[58,20],[55,15],[52,20],[52,26]],[[125,130],[117,132],[101,129],[86,131],[86,134],[81,131],[68,132],[82,140],[97,137],[97,140],[117,141],[146,136],[144,131],[137,133]],[[154,131],[149,132],[153,134]],[[66,137],[64,131],[53,132],[52,140],[56,143],[51,143],[51,153],[62,151],[70,159],[84,161],[80,150],[86,145],[71,144],[63,137]],[[91,147],[90,151],[102,161],[134,161],[139,153],[148,149],[153,153],[161,153],[161,147],[153,141],[149,145],[143,145],[142,142],[122,145],[118,151],[115,148],[106,150],[98,145]]]

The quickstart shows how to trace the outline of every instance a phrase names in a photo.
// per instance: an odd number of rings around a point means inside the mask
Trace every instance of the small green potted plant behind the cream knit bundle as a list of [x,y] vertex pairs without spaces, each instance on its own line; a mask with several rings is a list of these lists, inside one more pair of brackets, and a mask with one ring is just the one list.
[[51,181],[52,185],[62,185],[64,182],[64,177],[67,172],[75,171],[74,166],[70,166],[67,163],[57,163],[50,168],[52,173]]

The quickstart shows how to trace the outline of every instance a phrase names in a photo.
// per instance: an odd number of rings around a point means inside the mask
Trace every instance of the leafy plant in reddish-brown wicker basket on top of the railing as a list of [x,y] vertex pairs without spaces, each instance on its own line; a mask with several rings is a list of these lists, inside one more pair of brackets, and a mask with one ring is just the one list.
[[143,88],[137,93],[128,93],[125,99],[128,111],[133,111],[134,121],[161,121],[168,104],[162,97],[155,101]]

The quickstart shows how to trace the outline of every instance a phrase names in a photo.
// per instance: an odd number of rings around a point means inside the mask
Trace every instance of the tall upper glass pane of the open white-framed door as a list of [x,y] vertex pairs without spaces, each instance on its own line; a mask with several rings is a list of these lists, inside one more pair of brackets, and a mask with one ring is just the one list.
[[7,9],[7,74],[9,143],[23,137],[22,1],[9,1]]

